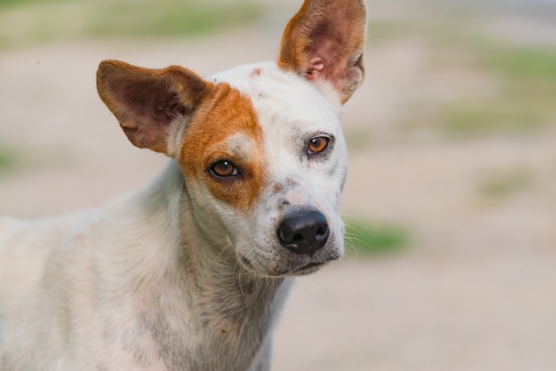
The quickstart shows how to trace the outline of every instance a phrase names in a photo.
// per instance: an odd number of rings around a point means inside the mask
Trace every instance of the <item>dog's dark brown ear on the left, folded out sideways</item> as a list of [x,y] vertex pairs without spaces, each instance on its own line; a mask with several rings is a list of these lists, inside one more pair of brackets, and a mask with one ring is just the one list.
[[192,114],[210,83],[183,67],[147,69],[105,60],[97,89],[133,145],[168,154],[171,122]]

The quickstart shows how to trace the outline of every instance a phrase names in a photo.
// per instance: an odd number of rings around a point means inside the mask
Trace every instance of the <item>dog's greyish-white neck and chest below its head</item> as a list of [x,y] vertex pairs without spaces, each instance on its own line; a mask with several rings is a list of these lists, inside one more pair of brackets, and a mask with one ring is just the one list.
[[151,242],[134,251],[133,258],[142,262],[134,264],[135,282],[129,282],[134,305],[143,311],[140,327],[164,350],[169,368],[213,369],[224,362],[229,369],[249,369],[270,341],[290,279],[260,278],[240,268],[226,241],[200,232],[189,197],[179,166],[171,161],[161,177],[131,198],[135,217],[146,218],[144,238]]

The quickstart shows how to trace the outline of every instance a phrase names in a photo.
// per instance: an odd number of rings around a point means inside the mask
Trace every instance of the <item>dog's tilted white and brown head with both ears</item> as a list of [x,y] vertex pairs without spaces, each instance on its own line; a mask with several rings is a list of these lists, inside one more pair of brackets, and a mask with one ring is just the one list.
[[103,61],[99,95],[132,144],[179,163],[199,227],[245,269],[314,272],[344,250],[338,116],[363,79],[365,32],[364,1],[306,0],[278,63],[203,79]]

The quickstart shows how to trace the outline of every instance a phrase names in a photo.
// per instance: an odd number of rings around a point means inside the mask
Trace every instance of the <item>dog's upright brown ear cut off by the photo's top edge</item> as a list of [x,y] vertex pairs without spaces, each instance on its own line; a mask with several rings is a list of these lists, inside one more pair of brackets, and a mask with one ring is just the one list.
[[364,0],[306,0],[284,31],[278,65],[324,79],[346,103],[363,81],[366,31]]

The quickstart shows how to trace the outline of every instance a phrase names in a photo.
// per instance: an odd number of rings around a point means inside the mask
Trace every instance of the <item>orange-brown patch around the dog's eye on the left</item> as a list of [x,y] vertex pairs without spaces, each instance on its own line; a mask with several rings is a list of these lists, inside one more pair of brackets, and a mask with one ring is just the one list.
[[[230,138],[238,136],[249,145],[234,149]],[[222,160],[233,162],[241,176],[210,176],[210,166]],[[180,164],[186,179],[201,179],[218,200],[242,211],[251,209],[268,177],[263,131],[250,99],[227,83],[218,83],[187,126]]]

